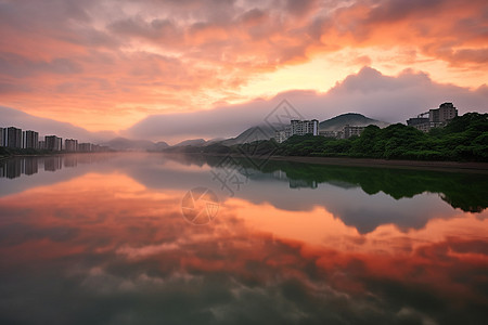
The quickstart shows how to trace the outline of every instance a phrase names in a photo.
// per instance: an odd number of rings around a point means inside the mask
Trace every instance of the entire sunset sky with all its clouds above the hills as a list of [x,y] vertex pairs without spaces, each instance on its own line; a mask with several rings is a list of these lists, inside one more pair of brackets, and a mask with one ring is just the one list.
[[[487,112],[486,0],[0,0],[0,106],[91,132],[236,135],[307,118]],[[112,134],[112,133],[111,133]]]

